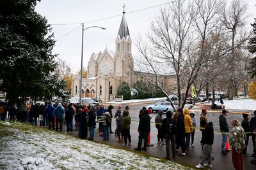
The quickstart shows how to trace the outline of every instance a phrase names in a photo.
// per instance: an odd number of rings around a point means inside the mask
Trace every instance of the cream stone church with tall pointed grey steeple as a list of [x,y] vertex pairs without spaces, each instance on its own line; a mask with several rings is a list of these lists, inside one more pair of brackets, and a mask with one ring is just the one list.
[[[134,60],[132,57],[132,41],[129,34],[125,11],[115,39],[115,51],[108,47],[104,52],[92,53],[87,66],[87,78],[82,80],[82,97],[100,99],[103,103],[113,101],[118,93],[118,88],[123,81],[133,87],[141,78],[133,73]],[[161,76],[167,91],[175,81],[173,76]],[[175,78],[174,78],[175,79]],[[72,96],[79,96],[79,77],[72,80]],[[170,84],[171,83],[171,84]]]

